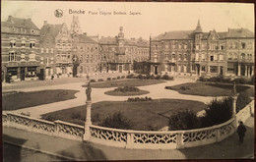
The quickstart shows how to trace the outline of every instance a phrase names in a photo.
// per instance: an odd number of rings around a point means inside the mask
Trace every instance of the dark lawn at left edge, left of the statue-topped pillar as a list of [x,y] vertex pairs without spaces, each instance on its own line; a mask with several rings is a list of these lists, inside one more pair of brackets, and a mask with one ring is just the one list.
[[41,90],[32,92],[12,92],[3,93],[2,110],[17,110],[52,102],[58,102],[76,98],[78,90]]

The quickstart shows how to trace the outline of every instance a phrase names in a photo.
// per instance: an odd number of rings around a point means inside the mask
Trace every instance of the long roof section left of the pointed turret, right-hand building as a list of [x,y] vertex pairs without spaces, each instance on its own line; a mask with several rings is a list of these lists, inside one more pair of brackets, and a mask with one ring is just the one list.
[[192,32],[193,30],[179,30],[179,31],[164,32],[156,36],[153,40],[191,39]]

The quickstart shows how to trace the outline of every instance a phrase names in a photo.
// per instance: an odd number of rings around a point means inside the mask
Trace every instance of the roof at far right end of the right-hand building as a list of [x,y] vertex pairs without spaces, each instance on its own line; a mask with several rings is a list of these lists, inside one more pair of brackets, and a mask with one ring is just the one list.
[[247,28],[228,28],[226,37],[254,37],[254,33]]

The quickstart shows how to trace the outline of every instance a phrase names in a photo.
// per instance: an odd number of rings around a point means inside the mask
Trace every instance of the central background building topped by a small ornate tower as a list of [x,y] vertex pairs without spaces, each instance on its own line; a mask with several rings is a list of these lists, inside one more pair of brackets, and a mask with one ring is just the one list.
[[129,73],[134,71],[134,61],[146,61],[149,43],[142,38],[125,39],[123,27],[115,37],[99,39],[99,72]]

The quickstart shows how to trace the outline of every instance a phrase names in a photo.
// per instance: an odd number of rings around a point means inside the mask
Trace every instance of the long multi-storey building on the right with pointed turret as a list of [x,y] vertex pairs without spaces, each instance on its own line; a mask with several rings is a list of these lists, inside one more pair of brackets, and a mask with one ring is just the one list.
[[170,31],[151,42],[151,73],[155,75],[251,76],[254,34],[245,28],[227,32]]

